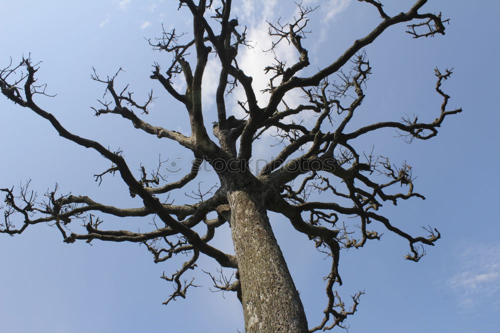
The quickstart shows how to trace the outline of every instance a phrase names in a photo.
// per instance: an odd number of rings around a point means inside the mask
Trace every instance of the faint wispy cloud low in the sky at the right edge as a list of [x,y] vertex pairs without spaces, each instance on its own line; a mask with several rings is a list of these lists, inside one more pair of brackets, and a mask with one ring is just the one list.
[[447,285],[460,297],[460,307],[476,307],[500,296],[500,245],[474,245],[462,253],[457,270]]

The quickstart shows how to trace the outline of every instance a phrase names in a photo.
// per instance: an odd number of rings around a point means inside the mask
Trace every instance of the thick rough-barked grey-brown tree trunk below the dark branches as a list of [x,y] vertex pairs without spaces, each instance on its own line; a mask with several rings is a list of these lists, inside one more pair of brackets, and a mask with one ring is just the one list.
[[262,195],[228,193],[246,333],[305,333],[307,320]]

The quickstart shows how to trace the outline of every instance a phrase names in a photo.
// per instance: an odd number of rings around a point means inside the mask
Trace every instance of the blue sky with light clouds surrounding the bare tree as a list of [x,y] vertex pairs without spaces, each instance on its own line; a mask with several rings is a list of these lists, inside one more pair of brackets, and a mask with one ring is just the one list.
[[[143,37],[159,36],[161,23],[189,31],[185,10],[175,1],[5,1],[0,21],[0,65],[31,53],[42,60],[39,82],[48,84],[54,98],[38,102],[74,133],[94,138],[111,149],[122,148],[129,165],[154,166],[158,153],[186,167],[189,153],[172,142],[148,137],[123,119],[94,117],[104,86],[90,79],[91,67],[110,75],[125,70],[117,82],[131,84],[137,97],[153,88],[158,99],[147,120],[178,131],[188,130],[187,116],[148,78],[151,64],[168,64],[167,55],[150,49]],[[234,1],[240,24],[248,26],[257,45],[241,53],[241,66],[265,83],[260,52],[269,38],[265,19],[283,20],[293,14],[291,1]],[[405,11],[412,1],[385,1],[386,11]],[[384,214],[412,234],[425,233],[431,224],[442,234],[436,246],[414,263],[402,259],[407,243],[385,232],[381,241],[368,242],[341,256],[344,285],[338,288],[348,304],[349,294],[365,290],[358,312],[349,318],[351,332],[497,332],[500,324],[500,232],[495,214],[498,166],[498,54],[497,1],[429,1],[424,10],[442,11],[451,18],[446,35],[412,39],[404,25],[393,26],[365,51],[372,66],[366,98],[355,125],[398,120],[406,114],[433,120],[440,98],[434,89],[433,68],[454,67],[443,90],[451,95],[449,108],[463,112],[446,118],[437,137],[405,143],[391,130],[363,141],[366,150],[406,160],[418,175],[416,190],[427,199],[407,200],[396,207],[385,204]],[[308,47],[311,67],[335,59],[350,43],[379,21],[376,10],[349,0],[309,0],[321,4],[311,15]],[[286,48],[281,56],[293,59]],[[204,77],[204,108],[209,124],[213,115],[213,80],[217,64],[212,60]],[[180,83],[178,83],[180,84]],[[237,97],[238,91],[235,92]],[[236,98],[234,97],[234,98]],[[231,97],[232,98],[232,97]],[[259,97],[265,100],[265,95]],[[293,101],[293,96],[290,96]],[[234,106],[231,110],[238,114]],[[211,112],[211,113],[210,113]],[[109,166],[94,151],[61,139],[49,124],[29,110],[0,98],[2,162],[0,187],[31,179],[40,195],[55,181],[63,192],[82,194],[120,207],[138,206],[118,177],[107,177],[101,186],[93,174]],[[273,153],[264,142],[258,157]],[[182,157],[176,159],[176,157]],[[171,180],[178,174],[172,174]],[[213,174],[202,174],[209,187]],[[183,190],[175,194],[185,202]],[[177,202],[177,201],[176,201]],[[325,306],[322,277],[329,269],[312,244],[297,234],[283,218],[270,214],[273,229],[306,308],[309,326],[320,321]],[[102,216],[109,228],[147,228],[145,219]],[[377,230],[384,232],[379,226]],[[229,230],[215,241],[230,250]],[[171,285],[159,278],[182,262],[154,264],[144,246],[131,243],[84,242],[65,244],[56,229],[47,225],[28,228],[22,235],[0,236],[0,320],[6,332],[132,332],[137,330],[180,332],[242,331],[240,305],[233,294],[212,293],[210,280],[193,272],[197,284],[187,299],[161,305]],[[215,261],[203,258],[200,268],[215,271]],[[337,329],[338,330],[338,329]]]

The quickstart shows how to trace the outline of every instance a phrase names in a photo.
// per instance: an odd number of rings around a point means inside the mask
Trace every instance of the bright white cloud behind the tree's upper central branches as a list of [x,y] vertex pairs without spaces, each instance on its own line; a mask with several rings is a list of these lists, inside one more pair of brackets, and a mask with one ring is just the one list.
[[[319,16],[318,18],[325,22],[321,26],[328,25],[328,22],[343,11],[349,2],[350,0],[328,0],[321,2],[321,11],[318,10],[319,12],[312,13],[311,17],[312,15]],[[274,53],[262,51],[269,49],[272,41],[276,40],[275,36],[268,35],[268,23],[266,21],[276,21],[280,16],[282,17],[280,19],[281,23],[292,21],[293,16],[296,16],[297,8],[294,5],[285,6],[283,2],[277,0],[243,0],[239,6],[235,6],[233,9],[233,13],[239,18],[240,26],[238,30],[242,30],[243,26],[247,26],[246,39],[251,41],[250,44],[254,46],[253,48],[239,47],[238,66],[247,75],[252,77],[252,87],[255,91],[258,105],[263,107],[269,98],[269,93],[262,93],[260,90],[267,87],[269,78],[274,74],[272,71],[266,74],[264,71],[265,66],[276,62],[274,56],[280,61],[285,62],[286,67],[297,62],[299,57],[294,46],[288,44],[286,40],[281,40],[279,46],[275,48]],[[300,73],[298,74],[300,75]],[[214,103],[213,94],[216,85],[213,82],[218,82],[218,64],[215,66],[215,63],[209,62],[203,77],[203,107],[210,107]],[[280,77],[274,80],[275,85],[279,84],[279,82]],[[284,96],[283,100],[289,107],[295,107],[303,102],[300,98],[302,94],[302,91],[291,90]],[[234,114],[237,118],[243,118],[247,114],[237,104],[237,100],[246,101],[244,91],[239,85],[226,100],[227,115]],[[280,104],[279,107],[284,108],[284,105]],[[309,112],[293,116],[293,119],[297,123],[305,120],[304,125],[307,125],[316,120],[315,117],[311,116],[312,114],[315,113]],[[286,122],[288,121],[291,121],[291,119],[286,119]],[[270,143],[276,143],[275,138],[271,137],[270,134],[275,134],[275,132],[267,131],[261,137],[262,139],[257,141],[257,145],[254,147],[255,156],[267,152]]]

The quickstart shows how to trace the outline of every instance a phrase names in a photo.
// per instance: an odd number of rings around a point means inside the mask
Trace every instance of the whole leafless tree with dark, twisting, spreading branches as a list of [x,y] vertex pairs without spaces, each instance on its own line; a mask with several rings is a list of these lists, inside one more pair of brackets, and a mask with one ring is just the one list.
[[[354,146],[355,139],[378,129],[393,128],[408,142],[426,140],[437,134],[447,115],[461,111],[447,110],[450,97],[441,90],[442,82],[452,71],[435,69],[435,91],[442,97],[435,119],[421,122],[417,117],[405,117],[401,121],[347,129],[365,97],[363,89],[371,73],[363,48],[386,28],[398,23],[406,22],[407,32],[419,38],[444,34],[444,24],[448,22],[440,13],[421,12],[426,0],[417,0],[409,10],[393,16],[384,11],[379,1],[359,1],[372,5],[381,22],[367,35],[354,40],[336,60],[307,75],[303,75],[309,70],[304,39],[307,17],[315,8],[298,4],[298,13],[292,21],[268,22],[268,31],[274,41],[267,51],[274,52],[280,44],[287,43],[294,46],[297,60],[287,65],[275,55],[274,63],[262,66],[265,72],[273,75],[265,89],[269,98],[259,105],[252,77],[238,66],[238,50],[251,47],[252,42],[246,38],[246,28],[232,18],[231,0],[215,1],[217,4],[212,0],[199,0],[198,4],[193,0],[180,0],[179,10],[192,15],[192,39],[175,29],[164,30],[159,38],[150,39],[154,49],[172,55],[166,69],[154,63],[150,78],[157,80],[176,99],[177,105],[185,107],[190,119],[190,135],[143,120],[154,99],[152,91],[141,103],[129,92],[128,85],[116,87],[115,79],[121,69],[105,78],[94,70],[92,78],[105,85],[105,96],[109,98],[99,100],[100,105],[93,107],[95,115],[119,115],[135,128],[159,139],[176,141],[192,152],[191,169],[174,182],[165,181],[161,159],[151,174],[142,165],[139,173],[134,174],[121,150],[112,151],[99,142],[71,133],[35,101],[36,94],[48,95],[45,85],[38,84],[35,78],[38,63],[33,63],[30,57],[18,64],[11,63],[0,72],[3,95],[47,119],[60,136],[92,148],[108,159],[111,166],[95,174],[95,180],[100,183],[108,174],[119,174],[130,195],[140,198],[143,206],[114,207],[88,196],[60,194],[57,188],[48,190],[44,199],[39,200],[27,183],[19,191],[14,191],[13,187],[1,189],[5,193],[5,204],[0,231],[14,235],[30,225],[46,222],[60,231],[66,243],[93,239],[137,242],[145,245],[155,262],[165,261],[178,253],[189,253],[190,258],[175,273],[162,276],[175,285],[165,303],[177,297],[184,298],[187,289],[195,286],[193,279],[184,274],[196,267],[196,260],[202,253],[215,259],[226,271],[233,270],[230,277],[221,271],[216,275],[208,274],[215,288],[236,292],[243,307],[246,332],[313,332],[344,327],[344,320],[356,311],[363,292],[351,296],[349,308],[334,290],[335,283],[342,284],[338,271],[342,248],[359,248],[367,240],[380,239],[380,231],[368,228],[372,222],[405,238],[409,244],[405,258],[412,261],[418,261],[425,254],[423,245],[434,245],[440,237],[430,226],[424,227],[428,235],[412,236],[379,212],[382,202],[395,205],[398,200],[424,197],[413,191],[410,165],[404,162],[395,166],[387,157],[364,152],[362,147]],[[214,137],[204,125],[201,103],[201,82],[210,56],[217,57],[221,66],[215,96]],[[172,84],[175,76],[184,80],[185,91],[179,91]],[[245,100],[238,101],[245,114],[242,118],[228,116],[226,112],[227,95],[236,86],[242,87],[245,95]],[[302,103],[288,105],[285,97],[297,90]],[[296,121],[303,114],[314,121]],[[249,167],[252,146],[267,133],[275,133],[282,149],[255,174]],[[203,161],[213,168],[220,184],[209,190],[198,186],[190,194],[197,200],[195,204],[173,204],[169,193],[191,184]],[[398,192],[397,188],[402,186],[405,192]],[[267,211],[285,216],[320,252],[331,257],[331,270],[325,278],[324,317],[311,328],[270,227]],[[97,217],[101,213],[152,218],[154,229],[148,232],[106,229]],[[215,217],[208,218],[209,214]],[[355,222],[346,224],[346,217],[356,217]],[[78,220],[83,221],[80,231]],[[234,255],[210,244],[217,227],[225,223],[231,229]],[[205,226],[204,235],[193,230],[198,225]]]

